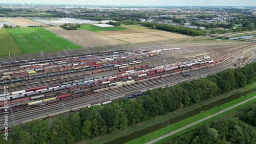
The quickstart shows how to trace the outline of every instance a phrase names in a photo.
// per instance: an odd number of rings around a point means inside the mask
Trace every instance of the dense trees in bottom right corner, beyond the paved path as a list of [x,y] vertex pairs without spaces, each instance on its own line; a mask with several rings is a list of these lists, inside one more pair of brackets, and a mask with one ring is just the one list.
[[[247,106],[254,110],[256,119],[256,103]],[[250,110],[252,111],[252,110]],[[240,118],[246,118],[243,113]],[[254,125],[255,126],[255,125]],[[220,118],[193,131],[172,139],[165,144],[173,143],[256,143],[256,128],[228,117]]]

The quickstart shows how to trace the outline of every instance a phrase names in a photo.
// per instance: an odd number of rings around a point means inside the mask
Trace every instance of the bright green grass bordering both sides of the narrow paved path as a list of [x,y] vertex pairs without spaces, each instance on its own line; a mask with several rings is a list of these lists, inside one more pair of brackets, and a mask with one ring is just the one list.
[[[145,142],[154,140],[154,139],[156,139],[156,138],[158,138],[158,137],[160,137],[160,136],[163,136],[163,135],[165,135],[165,134],[168,134],[168,133],[170,133],[170,132],[173,132],[173,131],[175,131],[175,130],[178,130],[178,129],[180,129],[180,128],[184,127],[184,126],[187,126],[187,125],[189,125],[189,124],[191,124],[191,123],[194,123],[194,122],[196,122],[196,121],[199,121],[200,119],[202,119],[202,118],[204,118],[204,117],[207,117],[207,116],[209,116],[209,115],[211,115],[211,114],[217,113],[217,112],[219,112],[219,111],[221,111],[221,110],[224,110],[224,109],[229,108],[229,107],[231,107],[231,106],[233,106],[233,105],[236,105],[236,104],[241,103],[241,102],[243,102],[243,101],[245,101],[245,100],[248,100],[248,99],[254,97],[255,95],[256,95],[256,92],[247,94],[246,97],[240,97],[239,99],[236,99],[236,100],[233,100],[233,101],[231,101],[231,102],[229,102],[229,103],[226,103],[226,104],[217,106],[217,107],[212,108],[212,109],[210,109],[210,110],[208,110],[208,111],[204,111],[204,112],[202,112],[202,113],[200,113],[200,114],[191,116],[191,117],[186,118],[186,119],[184,119],[184,120],[182,120],[182,121],[180,121],[180,122],[177,122],[177,123],[175,123],[175,124],[173,124],[173,125],[169,125],[169,126],[167,126],[167,127],[164,127],[164,128],[162,128],[162,129],[159,129],[159,130],[154,131],[154,132],[152,132],[152,133],[146,134],[146,135],[144,135],[144,136],[141,136],[141,137],[139,137],[139,138],[137,138],[137,139],[131,140],[131,141],[126,142],[126,143],[145,143]],[[239,108],[241,108],[241,107],[243,107],[243,106],[245,106],[245,105],[247,105],[247,104],[254,103],[254,102],[256,102],[256,99],[253,99],[253,100],[251,100],[251,101],[249,101],[249,102],[247,102],[247,103],[245,103],[245,104],[242,104],[242,105],[240,105],[240,106],[238,106],[238,107],[236,107],[236,108],[230,109],[230,110],[228,110],[228,111],[226,111],[226,112],[223,112],[223,113],[221,113],[221,114],[219,114],[219,115],[216,115],[216,116],[214,116],[214,117],[211,117],[211,118],[207,119],[206,121],[203,121],[203,122],[201,122],[201,123],[199,123],[199,124],[196,124],[196,125],[194,125],[194,126],[191,126],[191,127],[187,128],[187,129],[185,129],[185,130],[182,130],[182,131],[180,131],[180,132],[178,132],[178,133],[176,133],[176,134],[174,134],[174,135],[172,135],[172,136],[166,137],[166,138],[164,138],[164,139],[162,139],[162,140],[160,140],[160,141],[157,141],[157,142],[155,142],[155,143],[164,143],[165,141],[167,141],[167,140],[169,140],[169,139],[172,139],[172,138],[177,137],[177,136],[179,136],[179,135],[181,135],[181,134],[184,134],[184,133],[186,133],[186,132],[189,132],[189,131],[191,131],[191,130],[197,128],[197,127],[200,127],[200,126],[202,126],[202,125],[204,125],[204,124],[206,124],[206,123],[208,123],[208,122],[214,121],[215,119],[218,119],[218,118],[220,118],[220,117],[222,117],[222,116],[224,116],[224,115],[230,113],[231,111],[234,111],[234,110],[239,109]]]

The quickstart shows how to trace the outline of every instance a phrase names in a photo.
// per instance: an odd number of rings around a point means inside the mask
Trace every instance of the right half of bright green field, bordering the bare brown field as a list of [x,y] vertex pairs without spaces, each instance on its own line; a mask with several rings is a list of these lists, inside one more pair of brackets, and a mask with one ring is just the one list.
[[81,48],[81,46],[74,44],[66,39],[63,39],[62,37],[53,34],[52,32],[45,30],[44,28],[27,28],[27,30],[54,51],[68,50],[69,48]]

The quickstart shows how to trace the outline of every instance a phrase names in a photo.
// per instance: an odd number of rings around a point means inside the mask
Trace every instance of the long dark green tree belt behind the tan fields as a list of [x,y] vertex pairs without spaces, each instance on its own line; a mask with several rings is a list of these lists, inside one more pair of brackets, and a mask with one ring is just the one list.
[[202,35],[201,30],[195,30],[195,29],[189,29],[184,27],[177,27],[177,26],[169,26],[169,25],[162,25],[157,23],[151,23],[151,22],[136,22],[139,25],[143,25],[145,27],[152,27],[156,26],[156,29],[163,30],[163,31],[169,31],[169,32],[175,32],[180,34],[189,34],[192,36],[199,36]]

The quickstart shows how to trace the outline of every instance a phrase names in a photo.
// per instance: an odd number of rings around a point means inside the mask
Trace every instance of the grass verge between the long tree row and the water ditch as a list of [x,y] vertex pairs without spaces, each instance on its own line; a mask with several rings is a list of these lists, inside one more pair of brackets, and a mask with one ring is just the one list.
[[152,118],[152,119],[150,119],[148,121],[145,121],[145,122],[142,122],[142,123],[130,126],[130,127],[126,128],[124,130],[119,130],[116,133],[104,134],[104,135],[99,136],[99,137],[94,137],[92,139],[87,139],[86,141],[81,141],[80,143],[106,143],[106,142],[115,140],[117,138],[130,135],[130,134],[132,134],[134,132],[141,131],[141,130],[143,130],[145,128],[152,127],[154,125],[166,122],[169,119],[172,119],[172,118],[175,118],[177,116],[186,114],[186,113],[188,113],[190,111],[193,111],[195,109],[198,109],[198,108],[200,108],[202,106],[214,103],[214,102],[219,101],[221,99],[230,97],[233,94],[241,93],[241,92],[247,91],[247,90],[255,88],[255,87],[256,87],[256,82],[254,82],[254,83],[252,83],[250,85],[246,85],[243,88],[232,90],[232,91],[230,91],[228,93],[225,93],[225,94],[221,94],[221,95],[219,95],[218,97],[216,97],[214,99],[209,99],[209,100],[206,100],[206,101],[203,101],[203,102],[191,105],[189,107],[184,107],[182,109],[170,112],[170,113],[165,114],[165,115],[157,116],[157,117]]

